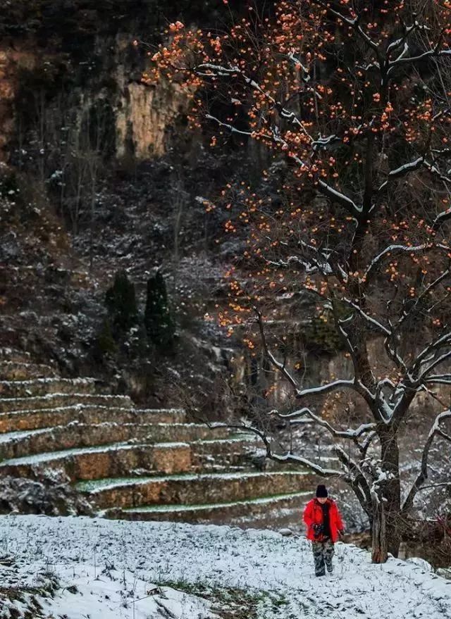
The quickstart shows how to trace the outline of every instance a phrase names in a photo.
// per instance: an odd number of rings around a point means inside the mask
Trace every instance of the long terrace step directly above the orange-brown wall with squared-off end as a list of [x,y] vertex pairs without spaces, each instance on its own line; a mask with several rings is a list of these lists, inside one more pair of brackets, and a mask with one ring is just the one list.
[[92,447],[115,442],[190,442],[203,437],[225,438],[225,427],[209,429],[195,423],[69,423],[40,430],[0,434],[0,460],[20,458],[48,451]]

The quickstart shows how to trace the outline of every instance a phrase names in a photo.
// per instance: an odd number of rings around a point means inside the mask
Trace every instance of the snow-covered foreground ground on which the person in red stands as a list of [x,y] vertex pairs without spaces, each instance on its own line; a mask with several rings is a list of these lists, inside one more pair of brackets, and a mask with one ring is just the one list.
[[316,578],[310,543],[268,530],[0,516],[0,618],[451,619],[427,564],[335,549]]

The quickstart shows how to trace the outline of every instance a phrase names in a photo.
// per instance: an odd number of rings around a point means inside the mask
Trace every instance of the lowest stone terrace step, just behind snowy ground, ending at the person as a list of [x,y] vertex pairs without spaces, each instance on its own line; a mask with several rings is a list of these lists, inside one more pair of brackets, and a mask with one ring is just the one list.
[[247,501],[194,505],[150,505],[125,509],[111,508],[102,515],[122,520],[166,520],[195,524],[250,527],[302,526],[302,510],[312,492],[273,494]]

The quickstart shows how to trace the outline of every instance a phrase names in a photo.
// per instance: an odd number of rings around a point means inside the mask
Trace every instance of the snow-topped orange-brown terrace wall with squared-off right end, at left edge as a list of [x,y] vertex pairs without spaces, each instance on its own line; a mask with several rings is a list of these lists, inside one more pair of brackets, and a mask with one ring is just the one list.
[[39,477],[43,469],[63,469],[75,481],[119,475],[186,473],[191,468],[191,456],[188,443],[113,443],[12,458],[0,464],[0,475]]

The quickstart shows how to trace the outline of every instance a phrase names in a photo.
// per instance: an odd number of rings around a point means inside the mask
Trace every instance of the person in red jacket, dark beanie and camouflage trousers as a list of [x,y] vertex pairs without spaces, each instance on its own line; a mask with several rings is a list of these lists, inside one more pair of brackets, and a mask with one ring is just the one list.
[[324,576],[326,568],[329,573],[333,570],[334,544],[345,529],[337,504],[328,498],[326,486],[319,484],[316,497],[305,506],[304,523],[307,539],[311,540],[315,574]]

